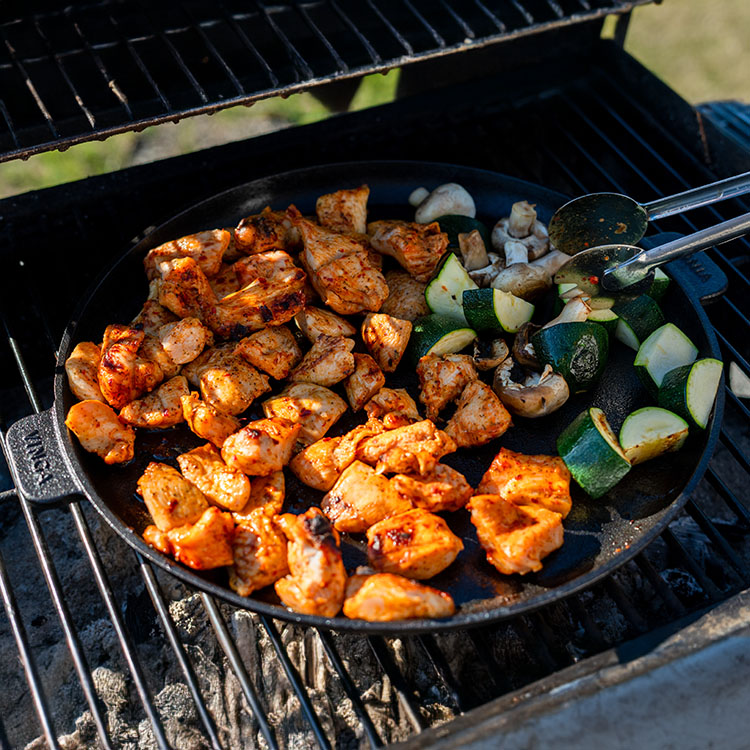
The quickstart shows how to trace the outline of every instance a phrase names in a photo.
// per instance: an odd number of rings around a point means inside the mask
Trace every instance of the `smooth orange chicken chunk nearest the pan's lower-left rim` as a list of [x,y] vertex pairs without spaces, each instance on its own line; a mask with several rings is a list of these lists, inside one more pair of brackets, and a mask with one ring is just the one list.
[[167,532],[175,560],[195,570],[231,565],[233,536],[232,516],[213,506],[206,508],[194,524]]

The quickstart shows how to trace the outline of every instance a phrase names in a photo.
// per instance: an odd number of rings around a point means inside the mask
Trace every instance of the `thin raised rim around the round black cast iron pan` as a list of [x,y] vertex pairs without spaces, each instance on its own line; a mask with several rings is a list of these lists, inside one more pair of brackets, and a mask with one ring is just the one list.
[[[102,272],[102,274],[96,279],[96,281],[91,285],[91,287],[87,290],[86,294],[81,299],[80,303],[78,304],[76,308],[75,313],[73,314],[73,318],[70,320],[67,327],[65,328],[62,340],[60,342],[60,348],[58,350],[56,374],[55,374],[55,384],[54,384],[55,401],[54,401],[53,409],[54,409],[55,419],[53,420],[53,422],[55,425],[57,441],[61,447],[61,453],[65,459],[65,462],[68,465],[71,476],[75,478],[75,480],[81,487],[82,494],[92,503],[92,505],[104,517],[105,521],[112,527],[112,529],[122,539],[124,539],[125,542],[127,542],[127,544],[133,547],[138,554],[142,555],[150,562],[158,565],[160,568],[162,568],[166,572],[171,573],[172,575],[176,576],[184,583],[187,583],[200,591],[203,591],[207,594],[211,594],[213,596],[217,596],[237,607],[247,609],[251,612],[255,612],[261,615],[266,615],[266,616],[273,617],[273,618],[280,619],[280,620],[285,620],[285,621],[292,622],[292,623],[297,623],[300,625],[310,625],[313,627],[322,628],[324,630],[356,631],[356,632],[370,633],[373,635],[374,634],[406,635],[406,634],[412,634],[412,633],[433,633],[433,632],[440,632],[440,631],[444,632],[444,631],[449,631],[449,630],[467,629],[467,628],[472,628],[472,627],[481,627],[483,625],[488,625],[490,623],[503,620],[503,619],[507,619],[515,615],[533,612],[537,609],[540,609],[541,607],[544,607],[546,604],[549,604],[553,601],[559,601],[568,596],[571,596],[572,594],[575,594],[585,588],[588,588],[589,586],[596,583],[597,581],[603,578],[606,578],[608,575],[610,575],[613,571],[615,571],[621,565],[624,565],[626,562],[628,562],[633,557],[635,557],[635,555],[637,555],[642,549],[644,549],[648,544],[650,544],[651,541],[653,541],[653,539],[655,539],[666,528],[669,522],[683,508],[685,503],[688,501],[691,492],[695,489],[698,482],[703,477],[703,474],[705,473],[706,468],[708,467],[708,462],[710,461],[711,456],[713,455],[713,451],[714,451],[716,442],[718,441],[718,437],[719,437],[719,430],[717,429],[717,427],[721,424],[721,418],[722,418],[723,409],[724,409],[723,387],[720,386],[719,388],[719,393],[716,399],[716,404],[714,406],[714,412],[713,412],[713,416],[711,419],[711,425],[708,428],[708,439],[706,441],[705,448],[703,449],[703,452],[701,454],[700,461],[698,462],[692,474],[690,475],[690,478],[688,479],[687,484],[685,485],[680,495],[677,498],[675,498],[675,500],[664,510],[664,513],[661,519],[651,529],[649,529],[645,534],[643,534],[643,536],[639,537],[630,546],[623,548],[616,557],[608,560],[601,567],[596,568],[590,571],[589,573],[585,573],[577,578],[574,578],[568,581],[567,583],[564,583],[560,586],[552,588],[543,594],[539,594],[531,600],[518,602],[517,604],[512,604],[507,607],[503,607],[503,606],[495,607],[494,609],[480,611],[480,612],[468,612],[468,613],[462,614],[459,611],[458,614],[454,615],[451,618],[447,618],[445,620],[419,619],[419,620],[400,620],[400,621],[395,621],[392,623],[382,623],[382,622],[367,622],[365,620],[350,620],[343,616],[339,616],[336,618],[325,618],[325,617],[319,617],[316,615],[298,614],[296,612],[287,610],[286,608],[280,605],[268,604],[266,602],[253,599],[252,597],[242,597],[239,594],[236,594],[235,592],[233,592],[229,588],[225,588],[223,586],[219,586],[218,584],[204,580],[203,578],[193,573],[188,568],[183,567],[182,565],[178,564],[174,560],[166,557],[165,555],[162,555],[160,552],[157,552],[155,549],[153,549],[148,544],[146,544],[139,534],[136,534],[133,531],[133,529],[126,526],[118,518],[118,516],[109,509],[107,504],[98,496],[94,486],[89,481],[86,475],[86,472],[82,470],[81,465],[78,462],[78,458],[74,452],[73,442],[70,438],[70,434],[67,428],[65,427],[65,414],[63,413],[63,390],[65,388],[65,374],[64,374],[65,373],[65,369],[64,369],[65,359],[67,358],[68,350],[70,348],[71,342],[73,341],[73,337],[75,335],[75,331],[78,326],[78,321],[81,319],[81,317],[85,313],[86,307],[88,306],[91,299],[95,296],[99,286],[103,283],[105,278],[107,278],[110,274],[112,274],[120,265],[120,263],[123,263],[126,260],[126,258],[128,258],[131,254],[135,252],[142,252],[146,249],[149,249],[150,238],[154,236],[156,233],[158,233],[166,224],[171,224],[173,221],[178,221],[179,219],[185,217],[187,214],[196,210],[198,206],[202,206],[203,204],[214,202],[214,201],[220,203],[225,197],[232,195],[237,191],[241,191],[241,190],[249,191],[250,186],[257,184],[258,182],[262,180],[273,179],[274,181],[279,181],[279,180],[283,181],[284,179],[287,179],[290,176],[294,176],[295,179],[304,179],[305,175],[310,174],[310,173],[318,174],[321,169],[335,170],[335,169],[340,169],[342,167],[346,167],[346,168],[356,167],[358,169],[361,169],[363,172],[364,170],[367,170],[367,169],[370,169],[371,171],[376,172],[376,171],[388,169],[388,168],[394,168],[394,169],[402,168],[406,170],[409,167],[415,167],[417,169],[422,169],[422,170],[424,170],[425,168],[438,169],[438,170],[439,169],[453,170],[459,173],[456,175],[459,178],[460,178],[460,173],[463,173],[467,176],[482,176],[486,179],[493,179],[493,178],[499,177],[503,180],[505,184],[508,184],[510,186],[512,186],[513,184],[518,185],[519,194],[523,194],[523,191],[531,191],[527,193],[529,195],[534,195],[534,194],[539,195],[540,192],[544,192],[548,196],[554,197],[555,199],[559,200],[560,201],[559,205],[563,205],[569,200],[568,197],[564,196],[561,193],[557,193],[547,188],[540,187],[539,185],[535,185],[534,183],[530,183],[525,180],[520,180],[514,177],[509,177],[509,176],[502,175],[497,172],[492,172],[486,169],[477,169],[474,167],[464,167],[461,165],[446,164],[446,163],[440,163],[440,162],[422,162],[422,161],[406,161],[406,160],[404,161],[396,161],[396,160],[359,161],[359,162],[337,162],[333,164],[325,164],[325,165],[320,165],[317,167],[308,167],[308,168],[301,169],[301,170],[291,170],[289,172],[285,172],[282,174],[273,174],[273,175],[267,175],[265,177],[256,178],[255,180],[252,180],[248,183],[244,183],[243,185],[237,185],[233,188],[225,190],[214,196],[206,198],[203,201],[200,201],[199,203],[194,204],[193,206],[180,212],[179,214],[176,214],[170,217],[166,221],[162,222],[155,230],[153,230],[152,232],[149,232],[149,234],[146,237],[144,237],[140,242],[132,246],[126,253],[123,253],[118,258],[118,260],[116,260],[113,264],[109,265]],[[674,283],[677,283],[677,282],[675,281]],[[716,340],[716,336],[713,332],[713,328],[711,326],[710,321],[708,320],[708,317],[706,316],[705,312],[703,311],[702,307],[700,306],[698,302],[693,300],[687,294],[685,296],[686,296],[687,301],[694,308],[698,316],[698,319],[705,330],[706,337],[708,339],[709,348],[711,349],[711,354],[713,356],[719,356],[718,355],[718,342]],[[723,384],[723,376],[722,376],[722,384]]]

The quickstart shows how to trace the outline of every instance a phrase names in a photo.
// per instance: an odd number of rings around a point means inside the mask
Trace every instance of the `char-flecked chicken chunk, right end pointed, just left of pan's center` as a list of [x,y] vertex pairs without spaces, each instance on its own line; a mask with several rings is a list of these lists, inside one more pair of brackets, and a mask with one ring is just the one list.
[[257,419],[224,441],[221,457],[251,477],[281,471],[292,457],[301,429],[302,425],[286,419]]

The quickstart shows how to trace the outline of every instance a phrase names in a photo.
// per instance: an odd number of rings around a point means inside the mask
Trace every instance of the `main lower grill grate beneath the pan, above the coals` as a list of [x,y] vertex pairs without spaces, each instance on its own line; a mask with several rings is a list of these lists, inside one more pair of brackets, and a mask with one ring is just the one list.
[[[420,6],[415,2],[413,7]],[[614,61],[608,63],[610,57]],[[451,94],[455,106],[450,119],[444,114],[446,93],[424,95],[381,108],[376,128],[372,112],[341,118],[335,125],[337,138],[331,138],[331,123],[322,123],[4,201],[0,208],[7,231],[0,250],[5,270],[0,309],[5,326],[3,357],[12,366],[0,374],[3,448],[8,424],[29,407],[38,411],[49,405],[54,342],[74,300],[106,263],[101,248],[109,247],[107,241],[134,236],[144,224],[156,223],[181,206],[256,173],[312,161],[354,159],[366,148],[371,158],[439,155],[445,161],[496,169],[564,192],[615,188],[642,200],[713,178],[676,138],[674,128],[652,111],[653,97],[647,98],[636,83],[615,80],[613,69],[620,57],[610,49],[606,55],[602,52],[597,65],[572,61],[570,69],[557,66],[542,71],[544,75],[530,75],[530,80],[545,83],[528,91],[524,99],[490,98],[488,91],[503,88],[483,81],[477,90],[469,87],[461,95]],[[571,71],[580,70],[586,74],[567,78]],[[632,65],[630,80],[636,80],[637,72]],[[474,107],[477,91],[483,92],[481,112]],[[425,131],[425,120],[435,124],[433,130]],[[513,147],[503,150],[502,144]],[[188,179],[196,174],[205,179]],[[735,200],[701,209],[660,222],[656,229],[687,231],[737,213],[741,205]],[[119,239],[115,244],[114,254],[122,249]],[[746,372],[750,371],[746,343],[750,279],[743,270],[747,256],[744,241],[713,252],[730,278],[730,287],[707,309],[725,360],[737,361]],[[70,262],[60,264],[56,260],[60,257]],[[163,670],[154,664],[150,650],[154,641],[169,644],[171,669],[192,697],[191,726],[207,746],[242,746],[254,740],[271,748],[294,742],[324,748],[377,747],[657,627],[678,627],[680,618],[750,584],[750,512],[741,499],[750,480],[748,425],[750,411],[728,391],[720,447],[706,480],[670,528],[607,580],[499,626],[403,640],[304,631],[243,614],[205,594],[186,599],[190,592],[181,584],[143,559],[133,560],[132,552],[86,503],[74,500],[38,511],[16,496],[6,473],[0,504],[0,593],[7,620],[0,623],[0,639],[9,645],[8,652],[13,641],[21,657],[20,668],[9,669],[8,679],[23,686],[25,678],[28,691],[13,691],[13,705],[0,711],[6,723],[0,725],[0,740],[18,746],[41,733],[49,747],[57,748],[59,735],[73,729],[75,716],[57,713],[54,691],[59,686],[50,673],[48,644],[40,640],[41,626],[35,624],[40,613],[29,611],[30,589],[45,585],[59,621],[59,631],[50,632],[65,639],[70,671],[78,675],[78,713],[90,711],[90,745],[98,740],[103,747],[117,741],[105,712],[107,696],[92,669],[99,670],[110,657],[128,675],[128,710],[134,724],[141,722],[144,743],[146,738],[160,748],[174,743],[175,727],[160,695]],[[68,556],[78,561],[72,573]],[[36,566],[29,580],[24,575],[31,568],[19,567],[24,557],[32,561],[32,568]],[[118,558],[120,565],[114,566]],[[74,602],[79,601],[78,589],[86,585],[97,602],[94,617],[113,631],[108,643],[119,651],[116,656],[105,656],[81,636],[91,622],[82,621]],[[135,596],[132,602],[131,596]],[[176,608],[187,606],[194,608],[190,622],[199,635],[175,617]],[[267,648],[261,658],[262,644]],[[238,700],[244,700],[244,709],[235,714],[240,725],[236,731],[244,727],[246,734],[231,735],[227,730],[219,683],[207,683],[197,671],[210,653],[219,655],[217,670],[233,674],[237,695],[242,696]],[[333,685],[338,703],[351,706],[353,719],[342,718],[338,707],[321,697],[319,670],[327,675],[326,685]],[[373,700],[368,682],[372,675],[390,686],[392,699]],[[281,685],[294,706],[283,721],[270,702],[272,683]],[[25,727],[8,725],[25,710],[36,712],[37,727],[29,727],[28,721]],[[382,720],[383,713],[388,714],[387,721]]]

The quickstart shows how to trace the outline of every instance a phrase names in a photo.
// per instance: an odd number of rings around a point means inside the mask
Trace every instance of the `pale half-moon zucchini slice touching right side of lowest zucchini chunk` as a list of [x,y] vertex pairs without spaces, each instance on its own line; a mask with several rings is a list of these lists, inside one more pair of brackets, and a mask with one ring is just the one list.
[[646,406],[629,414],[620,429],[620,445],[631,465],[682,448],[688,423],[674,412]]

